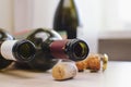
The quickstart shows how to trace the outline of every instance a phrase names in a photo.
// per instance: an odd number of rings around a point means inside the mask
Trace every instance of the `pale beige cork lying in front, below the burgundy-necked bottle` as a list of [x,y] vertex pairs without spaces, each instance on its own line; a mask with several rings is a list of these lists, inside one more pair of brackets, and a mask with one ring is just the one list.
[[61,62],[52,67],[52,77],[57,80],[73,78],[78,73],[74,63]]

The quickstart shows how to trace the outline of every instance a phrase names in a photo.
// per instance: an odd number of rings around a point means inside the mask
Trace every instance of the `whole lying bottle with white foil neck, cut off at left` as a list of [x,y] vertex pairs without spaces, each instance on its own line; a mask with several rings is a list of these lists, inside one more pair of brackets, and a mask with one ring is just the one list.
[[35,46],[29,40],[16,40],[0,29],[0,70],[8,67],[13,61],[27,62],[35,55]]

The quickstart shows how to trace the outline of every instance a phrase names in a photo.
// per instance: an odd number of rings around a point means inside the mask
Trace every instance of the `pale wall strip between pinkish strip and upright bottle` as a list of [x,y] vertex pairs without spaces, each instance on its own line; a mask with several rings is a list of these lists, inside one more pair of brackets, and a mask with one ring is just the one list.
[[33,27],[52,28],[53,13],[59,0],[34,0]]

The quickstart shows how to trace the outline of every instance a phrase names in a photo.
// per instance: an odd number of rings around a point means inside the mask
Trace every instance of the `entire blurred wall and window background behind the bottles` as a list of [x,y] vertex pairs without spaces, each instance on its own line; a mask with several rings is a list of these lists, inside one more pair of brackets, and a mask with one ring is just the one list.
[[[0,27],[11,34],[52,27],[59,0],[0,0]],[[131,60],[131,1],[75,0],[81,20],[79,38],[91,52],[108,53],[110,60]]]

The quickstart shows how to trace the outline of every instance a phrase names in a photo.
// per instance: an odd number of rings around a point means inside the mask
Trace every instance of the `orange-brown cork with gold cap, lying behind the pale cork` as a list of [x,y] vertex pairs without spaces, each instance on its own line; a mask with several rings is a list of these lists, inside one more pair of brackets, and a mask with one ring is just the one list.
[[105,71],[107,69],[108,55],[105,54],[88,54],[85,60],[75,62],[79,72],[90,70],[91,72]]

